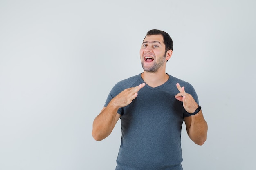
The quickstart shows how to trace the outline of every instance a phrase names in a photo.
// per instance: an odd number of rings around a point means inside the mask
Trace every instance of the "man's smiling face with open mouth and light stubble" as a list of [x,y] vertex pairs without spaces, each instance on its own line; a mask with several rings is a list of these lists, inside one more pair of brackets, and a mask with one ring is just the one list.
[[157,72],[166,63],[164,38],[162,35],[149,35],[144,39],[140,58],[144,71]]

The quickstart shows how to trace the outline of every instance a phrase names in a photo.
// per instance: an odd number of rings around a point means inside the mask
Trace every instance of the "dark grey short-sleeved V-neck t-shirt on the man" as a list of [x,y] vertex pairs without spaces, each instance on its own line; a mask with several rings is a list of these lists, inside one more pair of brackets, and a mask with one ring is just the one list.
[[[104,106],[124,89],[143,82],[141,74],[118,82]],[[177,83],[198,103],[191,84],[169,75],[161,86],[152,88],[146,84],[131,104],[118,109],[122,137],[116,170],[173,170],[183,161],[181,128],[184,117],[191,115],[174,97],[179,93]]]

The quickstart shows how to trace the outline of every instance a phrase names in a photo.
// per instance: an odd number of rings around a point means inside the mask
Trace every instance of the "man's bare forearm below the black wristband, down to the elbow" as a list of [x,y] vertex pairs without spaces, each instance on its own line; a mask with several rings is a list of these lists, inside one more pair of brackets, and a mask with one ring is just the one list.
[[189,137],[198,145],[204,144],[207,138],[208,125],[204,120],[202,110],[191,116],[191,126],[189,128]]

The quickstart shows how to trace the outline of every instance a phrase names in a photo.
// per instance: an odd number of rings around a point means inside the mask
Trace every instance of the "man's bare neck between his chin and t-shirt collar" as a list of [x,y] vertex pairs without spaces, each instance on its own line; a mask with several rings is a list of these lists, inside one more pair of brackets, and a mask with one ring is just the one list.
[[141,77],[144,80],[144,82],[146,82],[146,84],[148,84],[148,86],[150,87],[160,86],[169,79],[169,75],[165,73],[165,70],[164,71],[158,70],[155,73],[144,71],[141,74]]

